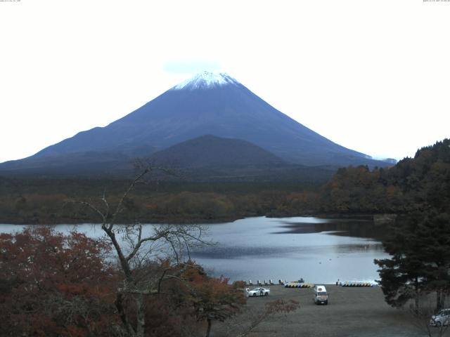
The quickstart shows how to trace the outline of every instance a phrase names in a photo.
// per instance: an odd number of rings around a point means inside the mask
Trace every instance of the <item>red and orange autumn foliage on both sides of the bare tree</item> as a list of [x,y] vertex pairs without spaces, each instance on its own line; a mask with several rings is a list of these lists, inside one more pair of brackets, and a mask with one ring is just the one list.
[[[108,262],[111,253],[103,241],[51,227],[0,234],[0,335],[127,336],[117,308],[124,277]],[[245,303],[242,284],[210,277],[192,261],[149,260],[133,275],[176,275],[145,296],[145,336],[204,335],[212,321],[231,317]],[[122,305],[135,322],[134,295],[125,294]]]

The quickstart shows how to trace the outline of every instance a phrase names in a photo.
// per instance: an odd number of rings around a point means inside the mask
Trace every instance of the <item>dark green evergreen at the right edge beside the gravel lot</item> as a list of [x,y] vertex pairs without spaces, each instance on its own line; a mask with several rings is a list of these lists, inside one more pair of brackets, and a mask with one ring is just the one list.
[[436,293],[436,310],[450,291],[450,217],[435,209],[416,211],[399,220],[383,242],[392,258],[375,260],[385,300],[401,307],[423,293]]

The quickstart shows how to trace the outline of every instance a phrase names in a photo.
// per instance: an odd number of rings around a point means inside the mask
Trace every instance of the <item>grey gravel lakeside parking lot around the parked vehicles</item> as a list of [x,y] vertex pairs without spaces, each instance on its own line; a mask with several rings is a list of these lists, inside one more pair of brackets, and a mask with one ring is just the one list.
[[[409,310],[390,307],[385,303],[383,292],[378,286],[348,288],[327,285],[326,288],[328,305],[314,304],[313,289],[283,286],[270,286],[271,296],[248,298],[246,313],[243,315],[264,310],[264,304],[271,300],[292,299],[300,303],[300,308],[295,312],[269,317],[248,336],[428,336],[425,327],[428,319],[418,322],[413,319]],[[438,336],[437,328],[432,328],[432,332],[433,336]],[[221,334],[218,333],[217,336]]]

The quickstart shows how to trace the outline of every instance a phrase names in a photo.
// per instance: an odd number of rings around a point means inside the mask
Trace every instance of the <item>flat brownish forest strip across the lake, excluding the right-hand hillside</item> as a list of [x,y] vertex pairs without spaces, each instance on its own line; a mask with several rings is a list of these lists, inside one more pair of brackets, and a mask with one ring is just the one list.
[[[53,224],[92,221],[70,199],[117,200],[129,180],[0,178],[0,223]],[[318,183],[302,181],[184,182],[148,180],[125,201],[122,223],[207,223],[264,216],[286,203],[312,210]]]

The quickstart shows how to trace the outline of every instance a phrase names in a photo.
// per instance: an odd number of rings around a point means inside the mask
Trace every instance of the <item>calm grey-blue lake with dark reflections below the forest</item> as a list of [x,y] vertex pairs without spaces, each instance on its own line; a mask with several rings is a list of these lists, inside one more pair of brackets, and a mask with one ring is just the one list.
[[[22,227],[0,225],[0,230]],[[74,228],[54,227],[60,232]],[[379,278],[373,260],[388,257],[379,241],[383,230],[370,220],[255,217],[207,227],[208,238],[217,244],[196,249],[191,257],[212,275],[231,281],[373,282]],[[91,237],[103,234],[99,225],[77,225],[77,230]]]

